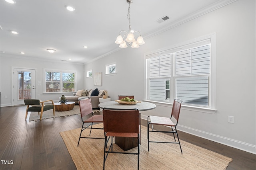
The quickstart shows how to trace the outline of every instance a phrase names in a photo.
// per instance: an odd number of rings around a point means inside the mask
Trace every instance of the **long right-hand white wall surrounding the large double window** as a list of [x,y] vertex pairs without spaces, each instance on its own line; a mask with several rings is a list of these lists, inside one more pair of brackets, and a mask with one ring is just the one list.
[[[256,60],[255,1],[238,0],[178,25],[154,37],[138,49],[126,48],[86,63],[102,72],[102,86],[85,78],[85,88],[106,89],[112,100],[118,94],[134,94],[144,99],[144,54],[171,47],[197,37],[216,33],[216,109],[214,114],[182,109],[179,129],[256,154]],[[105,76],[105,64],[117,63],[117,74]],[[146,115],[170,113],[170,107],[158,105]],[[234,124],[228,116],[234,116]]]

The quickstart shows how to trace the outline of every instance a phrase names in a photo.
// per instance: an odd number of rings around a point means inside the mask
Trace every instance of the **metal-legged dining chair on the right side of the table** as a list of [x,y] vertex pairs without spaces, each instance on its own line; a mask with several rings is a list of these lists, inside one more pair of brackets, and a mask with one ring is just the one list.
[[[181,103],[182,103],[182,100],[180,100],[180,99],[175,99],[173,101],[171,117],[160,117],[160,116],[151,116],[151,115],[148,116],[148,151],[149,151],[149,143],[150,142],[152,142],[152,143],[177,143],[180,145],[180,139],[178,136],[176,126],[178,125],[178,120],[179,120],[179,116],[180,116]],[[175,122],[173,123],[171,119],[175,120]],[[150,124],[152,125],[152,131],[150,131],[150,129],[149,129]],[[172,129],[170,129],[170,131],[154,131],[153,125],[170,126]],[[150,141],[150,139],[149,139],[150,132],[172,133],[175,142]],[[176,134],[176,136],[178,138],[178,142],[176,142],[174,134]],[[181,146],[180,146],[180,151],[182,153]]]

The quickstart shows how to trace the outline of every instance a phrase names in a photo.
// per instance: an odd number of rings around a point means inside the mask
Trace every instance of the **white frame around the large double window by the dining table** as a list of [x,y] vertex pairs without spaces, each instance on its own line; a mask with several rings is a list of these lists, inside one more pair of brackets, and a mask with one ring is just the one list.
[[[210,43],[209,43],[210,42]],[[208,86],[208,107],[204,106],[196,106],[196,105],[186,105],[183,104],[183,109],[188,110],[194,110],[194,111],[200,111],[204,113],[212,113],[214,114],[216,111],[216,33],[211,33],[209,35],[205,35],[202,37],[198,37],[189,41],[186,41],[184,43],[176,44],[171,47],[167,47],[164,49],[159,49],[157,51],[152,51],[149,53],[145,53],[144,59],[145,59],[145,91],[144,91],[144,98],[145,101],[153,102],[161,106],[170,106],[172,105],[172,101],[174,100],[176,96],[176,75],[175,75],[175,59],[174,59],[174,53],[181,51],[182,49],[189,49],[193,47],[198,47],[206,44],[211,44],[211,60],[210,60],[210,78],[209,78],[209,86]],[[166,55],[172,53],[172,75],[170,76],[170,102],[164,102],[164,101],[154,101],[150,100],[149,95],[149,80],[148,80],[148,63],[147,59],[150,59],[152,57],[157,57],[160,55]],[[175,76],[174,76],[175,75]],[[205,76],[205,75],[202,75]],[[178,78],[180,78],[179,76]],[[173,93],[173,94],[172,94]]]

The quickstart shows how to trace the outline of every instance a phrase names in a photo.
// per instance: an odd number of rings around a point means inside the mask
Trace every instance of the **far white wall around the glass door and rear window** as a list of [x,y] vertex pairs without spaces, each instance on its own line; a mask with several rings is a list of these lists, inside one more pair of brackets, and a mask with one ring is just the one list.
[[[20,68],[36,68],[36,79],[40,80],[42,86],[38,86],[36,82],[36,98],[40,100],[54,100],[59,101],[61,94],[43,94],[43,69],[52,68],[59,70],[76,70],[77,71],[77,89],[84,88],[84,64],[74,64],[70,62],[56,62],[52,61],[40,61],[34,59],[28,59],[26,57],[0,57],[0,91],[1,91],[1,106],[11,106],[12,105],[12,67]],[[72,95],[72,93],[62,93],[65,96]],[[40,95],[40,97],[38,97]],[[7,99],[4,98],[7,96]]]

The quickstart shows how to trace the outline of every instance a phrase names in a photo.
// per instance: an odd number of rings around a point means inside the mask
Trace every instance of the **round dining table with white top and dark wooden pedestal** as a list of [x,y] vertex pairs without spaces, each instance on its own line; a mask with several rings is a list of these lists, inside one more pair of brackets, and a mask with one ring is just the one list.
[[[134,105],[129,104],[119,104],[116,101],[104,102],[100,103],[99,107],[101,109],[108,108],[108,109],[138,109],[139,111],[146,111],[151,110],[156,107],[155,104],[150,102],[139,102]],[[104,123],[104,122],[103,122]],[[124,151],[130,150],[134,147],[138,147],[138,142],[136,139],[132,137],[115,137],[115,143]]]

